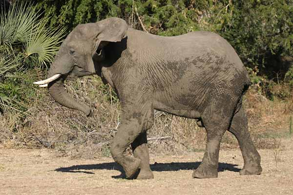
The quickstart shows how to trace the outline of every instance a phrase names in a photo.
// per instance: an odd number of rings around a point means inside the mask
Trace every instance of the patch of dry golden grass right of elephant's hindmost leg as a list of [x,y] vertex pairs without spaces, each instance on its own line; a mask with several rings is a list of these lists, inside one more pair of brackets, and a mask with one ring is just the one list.
[[274,98],[270,101],[257,92],[256,88],[246,94],[244,106],[249,119],[251,137],[256,147],[278,148],[280,137],[290,136],[290,117],[293,115],[293,95],[286,100]]

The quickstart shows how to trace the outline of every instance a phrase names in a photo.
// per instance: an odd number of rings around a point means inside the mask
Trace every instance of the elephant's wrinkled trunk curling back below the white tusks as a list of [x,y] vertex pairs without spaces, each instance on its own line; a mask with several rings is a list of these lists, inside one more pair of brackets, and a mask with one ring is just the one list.
[[71,98],[64,88],[64,79],[58,78],[48,84],[49,94],[61,105],[72,108],[75,110],[80,110],[85,113],[86,116],[90,116],[89,106],[77,102],[75,99]]

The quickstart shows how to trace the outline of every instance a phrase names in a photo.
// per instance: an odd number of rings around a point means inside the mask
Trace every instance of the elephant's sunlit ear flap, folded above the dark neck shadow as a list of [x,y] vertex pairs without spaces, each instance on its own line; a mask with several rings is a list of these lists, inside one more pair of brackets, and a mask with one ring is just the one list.
[[96,23],[99,33],[97,41],[118,42],[127,37],[128,25],[120,18],[108,18]]

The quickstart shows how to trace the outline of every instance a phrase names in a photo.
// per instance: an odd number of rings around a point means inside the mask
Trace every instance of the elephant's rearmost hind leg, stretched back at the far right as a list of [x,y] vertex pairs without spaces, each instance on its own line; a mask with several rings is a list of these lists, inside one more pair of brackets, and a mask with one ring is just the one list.
[[234,115],[229,131],[237,138],[244,159],[240,175],[259,175],[262,172],[260,156],[251,140],[243,107]]

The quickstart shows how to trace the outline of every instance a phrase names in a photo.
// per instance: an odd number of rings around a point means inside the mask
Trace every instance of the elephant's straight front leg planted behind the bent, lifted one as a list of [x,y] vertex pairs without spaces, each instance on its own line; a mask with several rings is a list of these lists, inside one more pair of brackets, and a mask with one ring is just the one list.
[[140,172],[137,179],[152,179],[154,178],[149,166],[149,154],[147,147],[146,131],[142,132],[131,144],[133,154],[141,160]]

